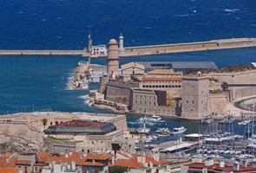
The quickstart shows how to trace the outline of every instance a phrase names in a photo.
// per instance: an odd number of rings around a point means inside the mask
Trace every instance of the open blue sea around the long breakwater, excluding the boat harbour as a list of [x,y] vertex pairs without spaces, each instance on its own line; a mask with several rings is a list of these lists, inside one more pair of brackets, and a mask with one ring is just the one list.
[[[119,33],[126,46],[256,37],[255,0],[0,0],[0,49],[82,49]],[[104,112],[70,91],[80,56],[0,56],[0,113]],[[128,61],[215,61],[218,67],[256,61],[256,48],[132,57]],[[104,60],[93,60],[104,64]],[[92,87],[96,87],[93,85]]]

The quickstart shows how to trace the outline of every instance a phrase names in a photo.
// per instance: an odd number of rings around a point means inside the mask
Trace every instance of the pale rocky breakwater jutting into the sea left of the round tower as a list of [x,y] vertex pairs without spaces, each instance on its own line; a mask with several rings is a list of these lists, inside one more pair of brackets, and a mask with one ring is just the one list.
[[87,63],[79,63],[75,67],[71,80],[69,80],[69,89],[88,89],[89,87],[89,70]]

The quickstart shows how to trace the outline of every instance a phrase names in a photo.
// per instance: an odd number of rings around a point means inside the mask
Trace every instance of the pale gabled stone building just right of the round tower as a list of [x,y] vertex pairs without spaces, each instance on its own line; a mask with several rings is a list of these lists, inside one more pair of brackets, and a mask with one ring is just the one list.
[[121,66],[121,75],[125,81],[131,80],[132,75],[145,74],[145,67],[135,62],[129,62]]

